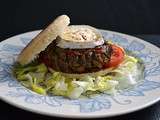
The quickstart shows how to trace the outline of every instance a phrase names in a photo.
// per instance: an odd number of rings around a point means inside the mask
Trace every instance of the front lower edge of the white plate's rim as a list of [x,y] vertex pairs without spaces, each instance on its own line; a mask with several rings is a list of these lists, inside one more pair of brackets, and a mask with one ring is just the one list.
[[40,114],[40,115],[47,115],[47,116],[50,116],[50,117],[60,117],[60,118],[108,118],[108,117],[117,117],[117,116],[120,116],[120,115],[126,115],[126,114],[129,114],[129,113],[133,113],[133,112],[136,112],[136,111],[140,111],[142,109],[145,109],[153,104],[156,104],[157,102],[160,101],[160,97],[157,98],[156,100],[154,101],[150,101],[148,102],[148,104],[144,104],[144,105],[141,105],[141,106],[138,106],[138,107],[134,107],[134,108],[131,108],[130,110],[128,111],[123,111],[123,112],[120,112],[120,113],[112,113],[110,115],[66,115],[66,114],[57,114],[57,113],[47,113],[47,112],[42,112],[40,110],[34,110],[34,109],[31,109],[31,108],[28,108],[26,106],[23,106],[23,105],[19,105],[19,104],[16,104],[15,102],[12,102],[4,97],[1,97],[0,96],[0,100],[4,101],[5,103],[8,103],[14,107],[17,107],[19,109],[22,109],[22,110],[26,110],[26,111],[29,111],[31,113],[36,113],[36,114]]

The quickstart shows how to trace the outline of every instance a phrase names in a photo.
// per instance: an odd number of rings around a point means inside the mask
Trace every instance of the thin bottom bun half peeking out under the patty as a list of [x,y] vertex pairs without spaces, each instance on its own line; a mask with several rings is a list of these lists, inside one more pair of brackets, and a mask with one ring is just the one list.
[[[97,72],[92,72],[92,73],[82,73],[82,74],[72,74],[72,73],[63,73],[60,72],[63,76],[66,76],[68,78],[82,78],[86,75],[92,76],[92,77],[96,77],[96,76],[100,76],[100,75],[106,75],[107,73],[111,72],[114,68],[107,68],[107,69],[103,69]],[[53,69],[49,68],[49,70],[51,72],[56,72]]]

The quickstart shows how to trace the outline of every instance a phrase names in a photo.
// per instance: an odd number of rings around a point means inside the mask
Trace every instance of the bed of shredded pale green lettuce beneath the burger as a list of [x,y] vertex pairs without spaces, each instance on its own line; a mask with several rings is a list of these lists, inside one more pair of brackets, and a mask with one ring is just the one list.
[[16,66],[16,78],[27,88],[39,94],[53,94],[77,99],[82,94],[103,92],[114,95],[117,90],[124,89],[137,83],[138,60],[125,56],[125,60],[110,73],[92,77],[67,78],[60,72],[48,71],[44,64]]

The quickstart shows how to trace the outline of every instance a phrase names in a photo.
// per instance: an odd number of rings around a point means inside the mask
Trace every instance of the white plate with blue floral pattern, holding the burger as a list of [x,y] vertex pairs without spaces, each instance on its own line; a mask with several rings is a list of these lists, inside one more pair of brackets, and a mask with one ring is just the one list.
[[108,117],[130,113],[160,100],[160,49],[136,37],[101,30],[106,39],[134,51],[145,62],[145,81],[113,97],[105,94],[69,100],[38,95],[21,86],[12,76],[12,65],[27,43],[39,33],[17,35],[0,43],[0,98],[32,112],[70,118]]

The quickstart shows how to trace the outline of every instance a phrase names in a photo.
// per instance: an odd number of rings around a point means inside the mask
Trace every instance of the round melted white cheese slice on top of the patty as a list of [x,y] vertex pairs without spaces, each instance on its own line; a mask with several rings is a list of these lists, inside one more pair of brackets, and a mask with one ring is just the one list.
[[61,48],[94,48],[102,45],[104,40],[101,34],[93,27],[87,25],[69,26],[60,36],[57,46]]

